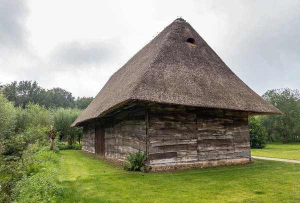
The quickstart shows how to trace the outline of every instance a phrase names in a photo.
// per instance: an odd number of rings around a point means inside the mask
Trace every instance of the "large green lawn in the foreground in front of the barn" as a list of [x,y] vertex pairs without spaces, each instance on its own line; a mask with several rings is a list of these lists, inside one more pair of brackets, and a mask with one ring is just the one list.
[[[60,151],[60,202],[298,202],[300,164],[255,163],[129,172],[77,150]],[[105,172],[104,172],[105,171]]]

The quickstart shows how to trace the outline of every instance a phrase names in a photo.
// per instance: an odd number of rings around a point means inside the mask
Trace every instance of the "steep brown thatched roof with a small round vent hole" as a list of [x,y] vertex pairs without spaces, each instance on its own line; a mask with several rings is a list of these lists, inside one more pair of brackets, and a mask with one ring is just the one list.
[[135,99],[281,113],[241,81],[189,23],[179,20],[117,70],[71,126]]

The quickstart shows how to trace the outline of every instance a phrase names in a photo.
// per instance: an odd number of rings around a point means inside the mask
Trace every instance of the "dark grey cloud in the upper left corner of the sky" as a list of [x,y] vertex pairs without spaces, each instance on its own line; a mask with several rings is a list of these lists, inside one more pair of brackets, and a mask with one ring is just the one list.
[[25,17],[28,14],[23,0],[0,0],[0,48],[23,48],[26,45]]

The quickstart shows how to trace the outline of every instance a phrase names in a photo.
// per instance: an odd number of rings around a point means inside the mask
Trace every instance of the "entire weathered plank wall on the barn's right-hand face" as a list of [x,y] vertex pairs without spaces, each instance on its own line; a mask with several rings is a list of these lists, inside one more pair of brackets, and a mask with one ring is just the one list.
[[150,165],[249,155],[245,112],[158,103],[147,108]]

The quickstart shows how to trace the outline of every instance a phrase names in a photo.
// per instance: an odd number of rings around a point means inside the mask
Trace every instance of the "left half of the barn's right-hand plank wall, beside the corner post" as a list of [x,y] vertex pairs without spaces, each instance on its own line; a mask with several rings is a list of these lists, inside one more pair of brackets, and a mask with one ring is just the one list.
[[195,108],[148,103],[149,163],[197,161]]

